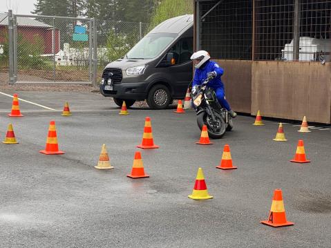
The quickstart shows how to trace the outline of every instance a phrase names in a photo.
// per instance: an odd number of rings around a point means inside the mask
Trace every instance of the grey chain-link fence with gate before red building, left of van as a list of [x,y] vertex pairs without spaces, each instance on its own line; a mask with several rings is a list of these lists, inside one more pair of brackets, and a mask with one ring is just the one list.
[[148,30],[147,23],[0,14],[0,80],[96,83]]

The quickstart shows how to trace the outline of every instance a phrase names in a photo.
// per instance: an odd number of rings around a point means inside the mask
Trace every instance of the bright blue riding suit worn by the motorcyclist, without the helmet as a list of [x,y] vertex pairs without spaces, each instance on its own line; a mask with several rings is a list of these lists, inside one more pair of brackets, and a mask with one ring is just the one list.
[[224,84],[222,82],[222,79],[220,77],[223,75],[224,70],[215,61],[207,61],[205,64],[202,65],[200,68],[196,68],[194,72],[194,78],[193,78],[193,83],[192,87],[196,85],[202,84],[205,79],[207,79],[207,73],[210,73],[214,71],[216,73],[216,77],[214,79],[211,79],[207,86],[210,88],[213,88],[216,97],[218,99],[218,102],[227,109],[227,111],[230,111],[230,105],[225,99],[225,90],[224,90]]

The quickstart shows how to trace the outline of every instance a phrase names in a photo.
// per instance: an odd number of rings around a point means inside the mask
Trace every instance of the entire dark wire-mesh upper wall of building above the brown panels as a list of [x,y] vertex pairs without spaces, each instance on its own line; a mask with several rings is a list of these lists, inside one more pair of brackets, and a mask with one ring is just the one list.
[[199,1],[197,42],[220,59],[331,61],[331,0]]

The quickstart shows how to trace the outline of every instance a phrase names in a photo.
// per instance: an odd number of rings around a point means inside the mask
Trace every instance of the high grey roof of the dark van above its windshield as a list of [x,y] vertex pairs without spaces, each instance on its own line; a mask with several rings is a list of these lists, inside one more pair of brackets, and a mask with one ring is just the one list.
[[171,32],[180,34],[193,26],[193,15],[181,15],[163,21],[151,30],[151,33]]

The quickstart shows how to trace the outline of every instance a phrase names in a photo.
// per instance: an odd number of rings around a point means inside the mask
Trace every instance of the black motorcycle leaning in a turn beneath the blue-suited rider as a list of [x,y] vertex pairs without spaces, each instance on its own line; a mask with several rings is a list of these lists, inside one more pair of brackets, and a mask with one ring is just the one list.
[[206,125],[209,137],[220,139],[225,131],[234,128],[229,112],[218,102],[213,88],[207,86],[212,77],[208,77],[201,85],[196,85],[191,90],[193,107],[196,110],[196,122],[200,130]]

